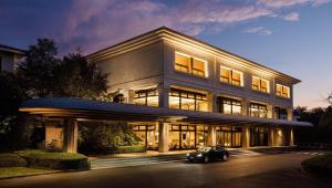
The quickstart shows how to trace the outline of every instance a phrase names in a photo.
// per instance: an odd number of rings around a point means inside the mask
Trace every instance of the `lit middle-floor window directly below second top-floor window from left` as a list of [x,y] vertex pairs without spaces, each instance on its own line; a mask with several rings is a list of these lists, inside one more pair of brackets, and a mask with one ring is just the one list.
[[236,114],[240,115],[242,111],[241,101],[227,98],[227,97],[218,97],[217,98],[218,112],[222,114]]

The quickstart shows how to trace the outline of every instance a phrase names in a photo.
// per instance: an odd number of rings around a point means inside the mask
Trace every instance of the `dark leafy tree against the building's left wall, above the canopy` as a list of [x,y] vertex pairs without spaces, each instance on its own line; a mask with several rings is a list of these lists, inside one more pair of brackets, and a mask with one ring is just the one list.
[[54,77],[56,96],[97,98],[107,91],[107,74],[79,52],[63,58],[54,70]]

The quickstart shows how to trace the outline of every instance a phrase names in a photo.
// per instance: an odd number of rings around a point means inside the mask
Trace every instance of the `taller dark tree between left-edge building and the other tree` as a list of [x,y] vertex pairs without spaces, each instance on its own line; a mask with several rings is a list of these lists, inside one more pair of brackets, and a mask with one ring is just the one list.
[[52,95],[55,83],[53,72],[59,64],[56,55],[58,48],[50,39],[38,39],[35,45],[29,46],[17,75],[30,97]]

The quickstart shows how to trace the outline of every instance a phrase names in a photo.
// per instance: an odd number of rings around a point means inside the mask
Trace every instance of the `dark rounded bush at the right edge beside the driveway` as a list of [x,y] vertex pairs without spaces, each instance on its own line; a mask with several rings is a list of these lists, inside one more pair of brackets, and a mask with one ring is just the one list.
[[305,159],[301,165],[311,174],[332,177],[332,153]]

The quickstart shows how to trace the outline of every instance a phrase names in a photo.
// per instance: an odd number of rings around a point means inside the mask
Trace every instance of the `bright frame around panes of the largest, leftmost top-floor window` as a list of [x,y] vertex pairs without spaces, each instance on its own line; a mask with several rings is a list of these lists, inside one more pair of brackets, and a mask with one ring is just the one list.
[[[188,58],[189,59],[189,64],[188,66],[184,66],[183,64],[179,64],[176,62],[176,55],[180,55],[180,56],[185,56],[185,58]],[[204,65],[204,70],[199,70],[197,67],[195,67],[195,61],[197,62],[201,62],[203,65]],[[177,70],[176,66],[179,66],[180,70]],[[190,55],[187,55],[185,53],[181,53],[181,52],[175,52],[175,56],[174,56],[174,70],[177,71],[177,72],[181,72],[181,73],[186,73],[186,74],[189,74],[189,75],[194,75],[194,76],[198,76],[198,77],[208,77],[208,62],[206,60],[203,60],[203,59],[199,59],[199,58],[195,58],[195,56],[190,56]],[[183,71],[181,69],[185,67],[187,69],[187,71]],[[196,73],[194,73],[196,72]]]

